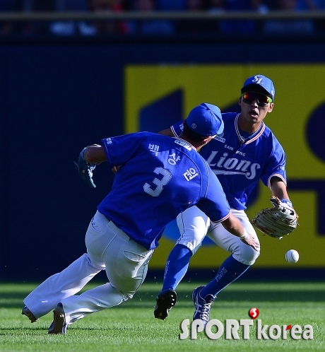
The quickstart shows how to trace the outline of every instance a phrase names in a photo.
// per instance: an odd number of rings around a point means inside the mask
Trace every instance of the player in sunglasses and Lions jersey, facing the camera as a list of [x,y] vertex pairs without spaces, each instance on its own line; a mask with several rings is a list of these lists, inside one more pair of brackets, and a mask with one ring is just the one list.
[[[273,82],[262,75],[249,77],[241,93],[240,114],[222,114],[225,124],[223,136],[216,136],[200,153],[218,176],[232,213],[258,241],[245,209],[249,193],[259,179],[271,189],[273,196],[278,197],[282,206],[287,206],[291,213],[294,211],[286,189],[285,152],[263,122],[268,112],[273,110]],[[183,123],[178,123],[160,133],[178,136],[182,129]],[[198,250],[203,237],[208,235],[231,255],[221,264],[213,281],[196,288],[192,293],[194,319],[201,319],[206,324],[211,303],[218,293],[254,264],[259,257],[259,250],[245,245],[222,225],[211,223],[208,214],[196,206],[179,214],[177,225],[181,236],[167,259],[162,291],[158,294],[154,315],[158,319],[167,317],[176,303],[175,289],[187,271],[189,260]],[[265,228],[259,229],[266,232]]]

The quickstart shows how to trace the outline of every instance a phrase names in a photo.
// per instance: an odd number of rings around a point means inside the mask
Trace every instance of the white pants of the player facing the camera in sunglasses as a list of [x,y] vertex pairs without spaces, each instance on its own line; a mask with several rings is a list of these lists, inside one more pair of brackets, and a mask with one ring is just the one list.
[[[240,219],[240,222],[248,233],[257,240],[258,237],[243,210],[232,209],[232,213]],[[196,206],[191,206],[177,216],[177,225],[181,233],[177,244],[184,245],[191,250],[192,254],[199,249],[203,238],[207,235],[216,245],[232,253],[238,262],[246,265],[254,264],[259,252],[249,245],[245,245],[239,237],[229,233],[221,223],[211,223],[208,216]]]

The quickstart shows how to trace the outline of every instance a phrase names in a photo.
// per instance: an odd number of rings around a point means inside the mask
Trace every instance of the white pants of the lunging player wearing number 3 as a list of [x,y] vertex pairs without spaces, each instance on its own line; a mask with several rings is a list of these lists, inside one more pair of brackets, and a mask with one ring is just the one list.
[[[61,273],[47,278],[25,298],[25,305],[36,318],[46,315],[61,302],[66,323],[71,324],[132,298],[146,278],[153,250],[138,245],[99,212],[88,226],[85,245],[87,254]],[[109,283],[76,295],[104,269]]]

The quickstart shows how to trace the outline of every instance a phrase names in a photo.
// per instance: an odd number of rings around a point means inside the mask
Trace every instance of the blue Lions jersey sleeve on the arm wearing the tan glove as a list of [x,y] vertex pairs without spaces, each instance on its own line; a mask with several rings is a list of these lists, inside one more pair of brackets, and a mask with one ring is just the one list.
[[264,167],[263,175],[261,175],[262,182],[271,188],[271,178],[279,177],[285,184],[287,184],[287,176],[285,173],[285,151],[280,143],[273,137],[273,148],[271,156]]

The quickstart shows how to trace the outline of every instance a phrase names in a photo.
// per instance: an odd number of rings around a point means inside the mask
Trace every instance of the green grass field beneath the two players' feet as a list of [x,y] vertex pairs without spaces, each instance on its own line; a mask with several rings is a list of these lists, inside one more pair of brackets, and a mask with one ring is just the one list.
[[[180,340],[180,323],[191,319],[191,290],[199,283],[182,283],[177,304],[161,321],[153,317],[160,283],[145,283],[138,293],[118,307],[95,313],[69,327],[66,335],[48,335],[52,313],[31,324],[20,314],[22,300],[32,284],[0,283],[0,351],[325,351],[325,283],[233,283],[213,303],[211,319],[249,319],[259,309],[263,325],[310,324],[314,339],[256,339],[256,324],[249,339],[211,340],[201,332],[196,340]],[[92,286],[87,286],[90,288]],[[242,328],[239,330],[242,336]]]

